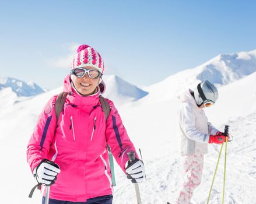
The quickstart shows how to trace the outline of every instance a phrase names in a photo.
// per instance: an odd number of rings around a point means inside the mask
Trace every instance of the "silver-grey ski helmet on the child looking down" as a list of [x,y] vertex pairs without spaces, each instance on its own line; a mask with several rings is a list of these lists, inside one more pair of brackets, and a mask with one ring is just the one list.
[[219,97],[218,90],[208,80],[201,82],[195,87],[194,90],[195,102],[198,106],[202,105],[205,101],[215,103]]

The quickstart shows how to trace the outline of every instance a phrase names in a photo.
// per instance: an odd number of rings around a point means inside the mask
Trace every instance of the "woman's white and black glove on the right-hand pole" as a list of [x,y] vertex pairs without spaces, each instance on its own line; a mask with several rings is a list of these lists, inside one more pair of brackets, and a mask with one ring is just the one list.
[[146,181],[145,167],[141,160],[135,159],[134,161],[127,161],[125,171],[127,178],[131,179],[133,183]]

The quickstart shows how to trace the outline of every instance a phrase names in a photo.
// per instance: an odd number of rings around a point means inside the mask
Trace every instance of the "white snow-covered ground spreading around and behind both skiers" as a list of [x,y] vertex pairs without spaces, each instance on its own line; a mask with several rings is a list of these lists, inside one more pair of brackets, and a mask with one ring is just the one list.
[[[189,72],[191,73],[187,74]],[[120,94],[119,90],[115,90],[114,94],[106,92],[106,97],[114,101],[115,97],[121,97],[120,103],[117,103],[118,111],[131,140],[142,150],[148,178],[145,183],[139,184],[143,203],[172,203],[178,194],[183,178],[180,174],[182,166],[178,152],[179,139],[176,137],[176,94],[181,89],[193,87],[192,83],[195,82],[188,79],[198,73],[195,69],[189,69],[184,75],[170,76],[157,85],[147,87],[147,95],[137,88],[133,89],[132,97],[125,96],[125,92]],[[111,87],[111,83],[117,83],[117,80],[112,77],[106,80],[106,83],[107,87]],[[128,90],[128,87],[125,84],[125,89]],[[27,198],[36,181],[26,163],[26,145],[43,105],[53,94],[59,92],[61,88],[19,100],[20,98],[12,95],[10,90],[0,91],[1,98],[5,97],[6,103],[9,104],[4,108],[0,107],[0,203],[40,203],[39,191],[34,193],[32,199]],[[4,93],[8,93],[9,97]],[[145,94],[144,97],[141,94]],[[127,100],[128,97],[131,100]],[[13,103],[13,100],[20,102]],[[255,100],[256,72],[253,72],[251,75],[223,83],[219,87],[218,102],[206,110],[206,115],[213,125],[222,131],[225,125],[230,125],[230,133],[234,137],[233,142],[227,146],[225,203],[256,203]],[[209,153],[205,155],[202,184],[195,191],[192,203],[206,203],[219,147],[209,145]],[[213,186],[210,202],[213,204],[221,203],[223,159],[224,151]],[[117,186],[114,187],[113,203],[136,203],[134,184],[126,179],[117,166],[115,176]]]

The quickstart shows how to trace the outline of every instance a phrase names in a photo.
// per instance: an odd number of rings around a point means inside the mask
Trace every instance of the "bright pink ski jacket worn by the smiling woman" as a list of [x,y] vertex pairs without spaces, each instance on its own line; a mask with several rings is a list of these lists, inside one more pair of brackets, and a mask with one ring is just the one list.
[[[120,115],[110,104],[105,121],[100,92],[83,97],[72,91],[66,76],[64,92],[68,93],[58,119],[54,105],[57,96],[45,105],[27,146],[27,162],[31,171],[43,159],[54,161],[61,169],[50,198],[61,201],[86,202],[89,198],[113,193],[107,144],[118,165],[125,172],[127,152],[135,151]],[[136,154],[138,155],[138,154]]]

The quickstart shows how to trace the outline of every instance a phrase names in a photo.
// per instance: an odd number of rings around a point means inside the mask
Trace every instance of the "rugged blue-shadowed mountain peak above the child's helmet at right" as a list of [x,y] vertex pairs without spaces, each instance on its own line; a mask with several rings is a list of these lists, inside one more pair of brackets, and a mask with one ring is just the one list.
[[198,80],[227,85],[256,71],[256,50],[221,54],[195,69]]

